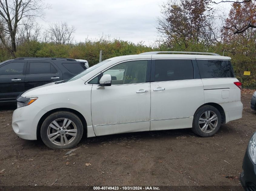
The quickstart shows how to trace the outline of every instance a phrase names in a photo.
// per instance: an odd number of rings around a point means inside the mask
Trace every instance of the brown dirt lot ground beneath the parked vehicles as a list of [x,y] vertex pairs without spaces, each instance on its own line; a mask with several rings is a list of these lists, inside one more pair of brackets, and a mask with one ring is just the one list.
[[183,129],[83,138],[72,155],[18,138],[11,126],[15,107],[2,107],[0,186],[240,185],[244,151],[256,131],[251,93],[241,99],[243,118],[213,137]]

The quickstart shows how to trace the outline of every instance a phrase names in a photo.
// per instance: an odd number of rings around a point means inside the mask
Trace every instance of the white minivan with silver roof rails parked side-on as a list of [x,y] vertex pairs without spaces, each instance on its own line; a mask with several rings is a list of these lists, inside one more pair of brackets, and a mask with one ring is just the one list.
[[52,149],[87,137],[191,128],[202,137],[240,119],[241,82],[230,57],[148,52],[102,61],[75,77],[17,97],[12,128]]

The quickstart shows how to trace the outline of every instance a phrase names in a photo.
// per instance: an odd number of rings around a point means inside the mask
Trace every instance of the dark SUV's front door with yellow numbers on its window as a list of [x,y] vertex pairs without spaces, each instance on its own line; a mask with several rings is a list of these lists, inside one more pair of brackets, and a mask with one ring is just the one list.
[[15,102],[25,91],[26,64],[27,61],[11,61],[0,66],[0,102]]

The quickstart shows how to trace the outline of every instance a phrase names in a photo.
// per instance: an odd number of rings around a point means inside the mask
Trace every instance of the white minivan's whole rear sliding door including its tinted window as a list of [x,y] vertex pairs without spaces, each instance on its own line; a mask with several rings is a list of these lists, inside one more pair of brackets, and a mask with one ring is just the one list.
[[189,59],[152,60],[150,130],[192,127],[195,111],[204,104],[201,79],[194,79]]

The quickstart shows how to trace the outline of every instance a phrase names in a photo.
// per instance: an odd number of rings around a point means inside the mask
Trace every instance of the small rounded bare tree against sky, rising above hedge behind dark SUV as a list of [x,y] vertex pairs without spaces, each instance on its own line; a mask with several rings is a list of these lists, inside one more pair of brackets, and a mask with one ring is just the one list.
[[69,27],[66,22],[57,22],[49,25],[48,34],[53,43],[67,44],[74,40],[75,27]]

